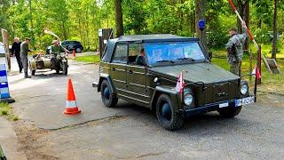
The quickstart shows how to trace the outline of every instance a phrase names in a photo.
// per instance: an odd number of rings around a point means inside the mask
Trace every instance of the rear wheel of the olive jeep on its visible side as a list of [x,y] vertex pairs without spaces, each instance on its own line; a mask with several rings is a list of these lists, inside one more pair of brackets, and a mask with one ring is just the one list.
[[107,108],[115,108],[117,105],[118,99],[116,95],[114,94],[114,92],[112,92],[110,85],[108,84],[106,80],[104,80],[101,83],[100,92],[101,92],[101,99],[104,105]]

